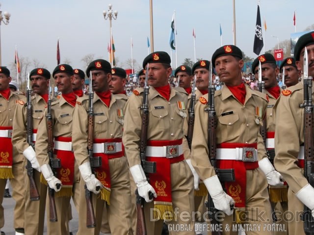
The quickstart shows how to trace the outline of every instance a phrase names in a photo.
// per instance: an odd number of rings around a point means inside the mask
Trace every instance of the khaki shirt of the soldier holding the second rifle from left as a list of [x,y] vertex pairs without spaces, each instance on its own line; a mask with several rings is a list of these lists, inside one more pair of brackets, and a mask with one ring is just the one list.
[[[51,104],[52,135],[53,137],[72,137],[72,119],[74,107],[60,95],[60,98]],[[46,117],[45,109],[43,117]],[[47,153],[48,133],[47,119],[43,119],[38,126],[35,152],[39,165],[49,164]]]

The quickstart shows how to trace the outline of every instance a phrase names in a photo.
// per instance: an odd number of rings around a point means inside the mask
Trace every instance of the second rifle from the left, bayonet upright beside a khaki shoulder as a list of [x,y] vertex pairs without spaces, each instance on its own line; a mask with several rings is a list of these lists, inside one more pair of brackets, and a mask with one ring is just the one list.
[[[50,94],[50,83],[49,83],[49,93],[48,93],[48,107],[47,107],[47,134],[48,134],[48,157],[50,161],[50,167],[52,169],[53,175],[56,175],[56,169],[61,167],[60,159],[53,158],[53,133],[52,133],[52,113],[51,113],[51,94]],[[59,189],[60,184],[57,184],[56,187]],[[54,201],[54,189],[48,186],[48,196],[49,196],[49,216],[50,222],[58,221],[57,212],[55,210],[55,201]]]

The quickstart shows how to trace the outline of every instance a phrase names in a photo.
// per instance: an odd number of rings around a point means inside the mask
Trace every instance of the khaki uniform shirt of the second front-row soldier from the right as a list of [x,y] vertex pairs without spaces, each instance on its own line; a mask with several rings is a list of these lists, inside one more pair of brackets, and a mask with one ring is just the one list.
[[[245,86],[246,96],[242,105],[226,85],[215,92],[216,111],[216,144],[258,143],[258,160],[267,157],[265,146],[260,134],[260,124],[256,123],[256,107],[261,107],[265,115],[267,106],[266,95]],[[203,95],[206,100],[208,94]],[[206,104],[197,102],[195,105],[195,122],[192,140],[192,164],[202,180],[215,175],[209,161],[208,149],[208,113]],[[227,115],[222,115],[222,114]],[[260,123],[262,120],[260,119]]]

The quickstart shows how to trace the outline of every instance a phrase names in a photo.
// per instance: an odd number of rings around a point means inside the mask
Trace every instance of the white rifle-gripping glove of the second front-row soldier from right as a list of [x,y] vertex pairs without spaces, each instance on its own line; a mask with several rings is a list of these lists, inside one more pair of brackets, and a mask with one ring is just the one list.
[[218,176],[214,175],[204,180],[204,184],[212,198],[215,208],[219,211],[223,211],[227,215],[232,215],[233,210],[230,209],[230,205],[235,204],[235,200],[222,189]]

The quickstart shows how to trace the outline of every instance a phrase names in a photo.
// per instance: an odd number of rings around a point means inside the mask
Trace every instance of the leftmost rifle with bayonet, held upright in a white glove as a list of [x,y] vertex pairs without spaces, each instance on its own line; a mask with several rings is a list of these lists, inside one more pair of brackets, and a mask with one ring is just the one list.
[[[31,108],[31,89],[29,85],[29,73],[27,80],[27,126],[26,126],[26,140],[27,143],[34,148],[33,143],[33,120],[32,120],[32,108]],[[29,179],[29,198],[31,201],[39,200],[39,192],[34,180],[34,171],[33,167],[31,167],[31,163],[27,160],[26,171]]]

